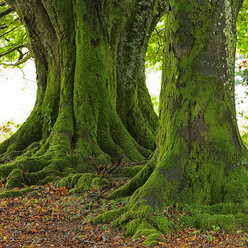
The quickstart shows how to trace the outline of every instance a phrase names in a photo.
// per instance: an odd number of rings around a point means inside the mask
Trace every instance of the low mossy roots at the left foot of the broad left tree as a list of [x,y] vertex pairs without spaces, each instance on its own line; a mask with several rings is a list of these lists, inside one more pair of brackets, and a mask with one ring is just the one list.
[[[91,170],[90,170],[91,169]],[[41,185],[58,181],[70,174],[93,171],[76,155],[48,158],[46,156],[23,158],[1,165],[0,177],[6,178],[6,188],[23,188],[24,185]]]

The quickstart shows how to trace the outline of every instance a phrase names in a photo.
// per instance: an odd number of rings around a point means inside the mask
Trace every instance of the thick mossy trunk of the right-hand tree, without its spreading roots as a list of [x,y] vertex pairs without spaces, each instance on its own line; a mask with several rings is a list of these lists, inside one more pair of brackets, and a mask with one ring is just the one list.
[[168,14],[156,169],[140,189],[153,208],[247,199],[234,99],[236,10],[229,1],[184,4]]

